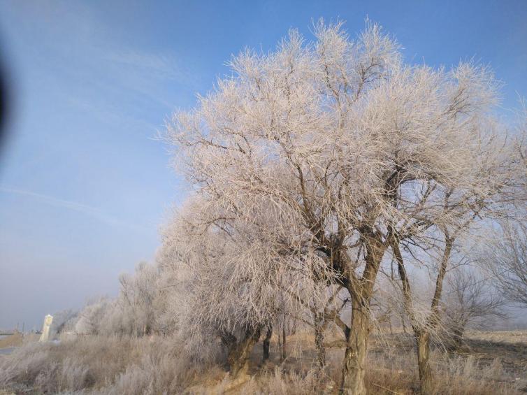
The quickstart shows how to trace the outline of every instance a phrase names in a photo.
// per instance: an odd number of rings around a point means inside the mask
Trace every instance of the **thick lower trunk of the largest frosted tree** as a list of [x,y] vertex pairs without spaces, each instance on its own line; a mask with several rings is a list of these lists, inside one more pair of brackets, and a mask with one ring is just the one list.
[[364,301],[352,299],[352,323],[346,333],[346,352],[342,368],[340,394],[366,395],[366,353],[370,316]]

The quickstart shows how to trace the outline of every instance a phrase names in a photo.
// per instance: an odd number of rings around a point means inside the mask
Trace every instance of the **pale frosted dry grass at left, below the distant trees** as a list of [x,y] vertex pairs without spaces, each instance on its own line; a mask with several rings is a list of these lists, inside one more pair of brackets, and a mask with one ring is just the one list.
[[[189,368],[192,366],[192,368]],[[171,339],[79,337],[31,343],[0,359],[0,389],[17,393],[178,394],[198,373]]]

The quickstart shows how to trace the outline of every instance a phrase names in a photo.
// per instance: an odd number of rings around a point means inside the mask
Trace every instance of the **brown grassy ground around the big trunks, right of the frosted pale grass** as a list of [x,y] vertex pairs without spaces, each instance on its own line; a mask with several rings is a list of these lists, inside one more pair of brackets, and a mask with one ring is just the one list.
[[[470,332],[461,352],[441,347],[433,352],[436,394],[527,393],[527,336],[525,332]],[[261,345],[254,348],[245,380],[226,380],[187,388],[192,394],[337,394],[344,349],[338,335],[326,337],[328,366],[317,372],[317,358],[310,333],[289,336],[287,359],[281,361],[277,339],[271,358],[261,365]],[[382,334],[370,338],[368,392],[416,394],[418,390],[413,338],[409,334]]]

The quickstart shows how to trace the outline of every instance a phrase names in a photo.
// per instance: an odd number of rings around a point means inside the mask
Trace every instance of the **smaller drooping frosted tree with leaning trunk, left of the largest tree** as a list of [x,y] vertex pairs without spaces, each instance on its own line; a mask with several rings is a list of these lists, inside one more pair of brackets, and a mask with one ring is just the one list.
[[[161,270],[170,280],[164,321],[178,327],[192,354],[218,340],[233,375],[245,371],[252,346],[287,308],[287,266],[254,223],[215,222],[206,202],[193,199],[164,229]],[[261,221],[261,222],[259,222]],[[300,275],[300,274],[299,274]],[[291,292],[291,294],[296,294]],[[282,295],[282,297],[280,297]],[[205,352],[205,354],[208,354]]]

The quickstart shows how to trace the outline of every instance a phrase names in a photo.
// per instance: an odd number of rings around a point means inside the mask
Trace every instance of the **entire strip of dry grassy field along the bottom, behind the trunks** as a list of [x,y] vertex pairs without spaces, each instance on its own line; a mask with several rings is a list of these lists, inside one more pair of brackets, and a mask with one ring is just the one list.
[[[220,364],[180,354],[172,338],[79,336],[58,344],[33,341],[0,355],[0,389],[6,394],[336,394],[340,343],[338,336],[326,336],[328,364],[319,371],[310,332],[287,337],[284,361],[273,337],[266,364],[261,364],[259,343],[247,374],[232,381]],[[410,335],[371,336],[368,358],[370,394],[417,392]],[[456,354],[436,346],[433,363],[437,394],[527,393],[527,331],[471,331]]]

